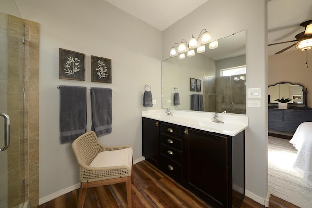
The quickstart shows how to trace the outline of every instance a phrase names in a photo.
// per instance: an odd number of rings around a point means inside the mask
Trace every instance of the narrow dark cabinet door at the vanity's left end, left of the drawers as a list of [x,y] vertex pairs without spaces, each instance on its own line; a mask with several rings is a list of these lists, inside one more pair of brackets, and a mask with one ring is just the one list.
[[159,121],[143,118],[142,155],[147,161],[159,165]]

